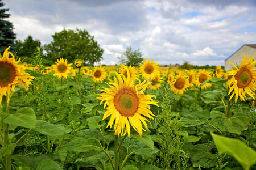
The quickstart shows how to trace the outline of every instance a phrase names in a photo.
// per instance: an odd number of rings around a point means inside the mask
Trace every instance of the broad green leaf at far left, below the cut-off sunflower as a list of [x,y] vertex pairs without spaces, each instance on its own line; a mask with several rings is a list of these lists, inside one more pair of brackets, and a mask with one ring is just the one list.
[[36,116],[32,108],[22,108],[14,114],[8,114],[3,121],[11,125],[31,129],[36,124]]

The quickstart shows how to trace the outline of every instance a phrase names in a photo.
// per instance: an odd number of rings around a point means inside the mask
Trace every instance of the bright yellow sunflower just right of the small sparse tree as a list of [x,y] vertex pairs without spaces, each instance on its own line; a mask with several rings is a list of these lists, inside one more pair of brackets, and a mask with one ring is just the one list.
[[153,60],[150,61],[150,59],[147,58],[146,60],[142,61],[143,64],[139,67],[142,73],[143,78],[150,77],[151,79],[154,79],[157,75],[159,75],[159,66],[157,62],[154,62]]

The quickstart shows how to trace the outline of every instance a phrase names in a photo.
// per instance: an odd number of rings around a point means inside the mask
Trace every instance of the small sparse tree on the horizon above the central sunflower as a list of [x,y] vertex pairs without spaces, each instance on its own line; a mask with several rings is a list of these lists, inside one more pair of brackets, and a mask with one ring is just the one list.
[[128,66],[139,66],[142,61],[142,52],[139,49],[134,50],[131,46],[127,47],[127,50],[118,57],[120,63],[125,63]]

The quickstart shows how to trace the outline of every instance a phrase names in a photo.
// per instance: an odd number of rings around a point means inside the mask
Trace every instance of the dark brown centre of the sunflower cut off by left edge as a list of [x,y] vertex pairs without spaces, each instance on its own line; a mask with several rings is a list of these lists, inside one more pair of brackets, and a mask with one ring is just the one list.
[[0,62],[0,87],[8,86],[13,83],[16,77],[16,70],[13,65],[6,62]]

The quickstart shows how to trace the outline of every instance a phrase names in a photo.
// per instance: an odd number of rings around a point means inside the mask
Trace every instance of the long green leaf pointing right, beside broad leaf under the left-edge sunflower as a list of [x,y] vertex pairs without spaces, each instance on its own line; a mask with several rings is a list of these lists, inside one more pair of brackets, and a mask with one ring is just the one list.
[[58,136],[71,131],[71,129],[65,128],[64,126],[50,124],[49,122],[43,120],[38,120],[33,130],[50,136]]

